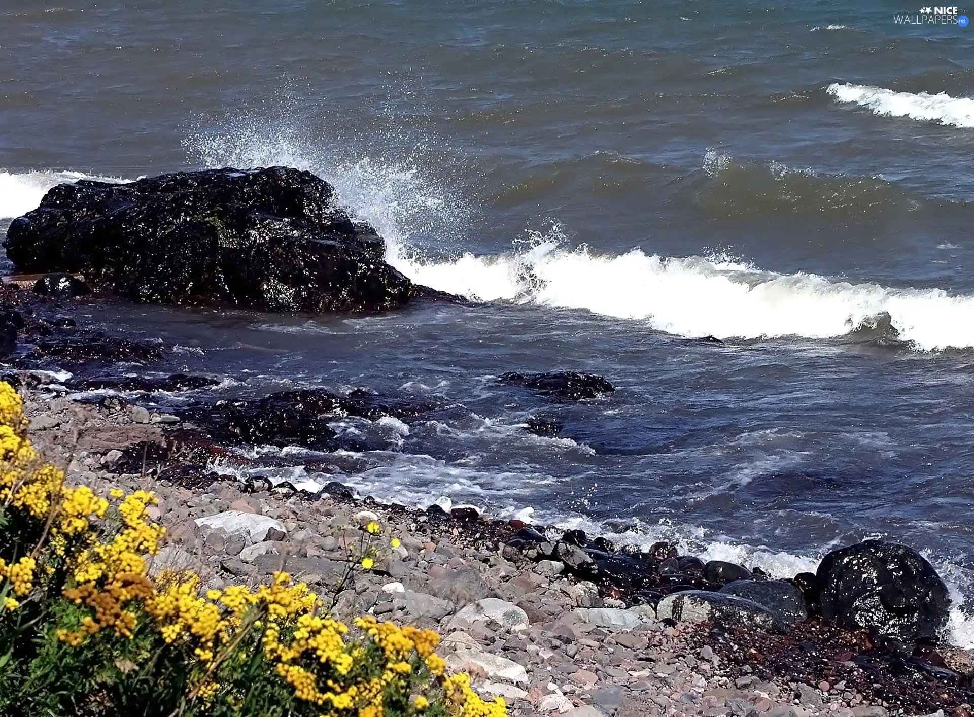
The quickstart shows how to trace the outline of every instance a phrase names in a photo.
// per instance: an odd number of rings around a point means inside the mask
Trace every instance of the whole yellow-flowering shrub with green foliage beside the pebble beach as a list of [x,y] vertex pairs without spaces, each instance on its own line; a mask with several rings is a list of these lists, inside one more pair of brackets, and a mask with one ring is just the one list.
[[506,715],[468,675],[445,674],[436,632],[340,623],[286,573],[206,594],[192,573],[150,578],[166,533],[148,518],[155,496],[65,485],[6,383],[0,462],[2,714]]

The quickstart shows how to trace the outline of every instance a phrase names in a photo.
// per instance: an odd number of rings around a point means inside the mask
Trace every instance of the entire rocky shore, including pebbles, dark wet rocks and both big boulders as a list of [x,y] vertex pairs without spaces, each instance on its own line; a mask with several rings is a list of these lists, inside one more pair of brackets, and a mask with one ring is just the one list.
[[[184,261],[187,243],[206,261]],[[773,580],[760,566],[704,562],[667,543],[616,546],[474,507],[381,505],[340,481],[362,470],[345,452],[385,444],[331,424],[408,425],[449,407],[302,387],[167,409],[158,392],[216,381],[160,375],[162,342],[76,321],[80,307],[115,297],[310,312],[456,300],[385,264],[381,237],[307,172],[61,185],[12,224],[6,246],[21,269],[83,272],[94,286],[72,274],[6,283],[0,373],[24,396],[35,446],[69,481],[157,493],[153,517],[169,538],[153,570],[194,570],[204,588],[286,570],[343,618],[435,627],[449,664],[514,715],[971,715],[974,659],[944,644],[947,587],[909,547],[867,541],[834,550],[815,574]],[[497,380],[552,403],[615,390],[572,371]],[[545,414],[525,430],[561,428]],[[254,445],[325,456],[306,468],[334,479],[310,492],[257,477],[294,460],[241,450]],[[350,580],[350,547],[354,555],[373,521],[382,549]]]

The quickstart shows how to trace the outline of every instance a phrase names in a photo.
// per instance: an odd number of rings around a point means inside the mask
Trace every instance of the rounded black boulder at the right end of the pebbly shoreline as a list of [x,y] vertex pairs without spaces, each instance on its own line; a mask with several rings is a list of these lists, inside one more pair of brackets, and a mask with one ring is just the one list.
[[947,585],[910,547],[871,540],[833,550],[816,582],[823,616],[867,629],[897,651],[936,644],[947,624]]

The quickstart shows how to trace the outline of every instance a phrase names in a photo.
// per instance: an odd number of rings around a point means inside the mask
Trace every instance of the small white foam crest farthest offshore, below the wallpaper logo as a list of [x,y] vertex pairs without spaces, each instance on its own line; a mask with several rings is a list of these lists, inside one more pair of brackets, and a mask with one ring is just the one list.
[[947,93],[897,93],[870,85],[833,83],[826,89],[840,102],[853,102],[883,117],[909,117],[954,127],[974,127],[974,99]]

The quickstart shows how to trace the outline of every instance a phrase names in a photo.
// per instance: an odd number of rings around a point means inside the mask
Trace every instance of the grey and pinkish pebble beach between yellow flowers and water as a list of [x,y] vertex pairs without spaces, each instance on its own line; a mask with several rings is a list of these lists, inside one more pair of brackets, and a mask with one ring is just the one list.
[[[206,587],[285,569],[327,593],[359,524],[377,518],[401,545],[337,593],[336,612],[436,627],[450,664],[471,670],[483,692],[506,697],[512,714],[970,714],[974,663],[962,651],[897,656],[863,631],[821,620],[771,631],[686,615],[677,621],[657,615],[658,605],[632,606],[612,581],[571,575],[558,550],[571,561],[561,546],[580,542],[577,533],[490,520],[474,509],[380,505],[337,482],[310,495],[149,459],[136,467],[138,451],[187,429],[137,405],[70,400],[57,386],[22,389],[32,438],[71,480],[156,491],[169,543],[155,569],[200,571]],[[549,544],[552,556],[529,540],[536,531],[560,538]]]

